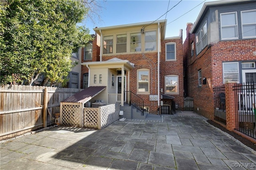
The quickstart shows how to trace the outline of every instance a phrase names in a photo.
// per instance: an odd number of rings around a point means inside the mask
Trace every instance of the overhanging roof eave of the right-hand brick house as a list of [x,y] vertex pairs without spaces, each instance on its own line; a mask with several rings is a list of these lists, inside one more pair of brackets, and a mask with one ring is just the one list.
[[252,2],[255,2],[255,1],[254,0],[219,0],[219,1],[205,2],[190,32],[194,33],[194,31],[196,31],[197,27],[200,25],[201,20],[203,19],[204,15],[206,14],[209,8],[246,4],[246,3],[252,3]]

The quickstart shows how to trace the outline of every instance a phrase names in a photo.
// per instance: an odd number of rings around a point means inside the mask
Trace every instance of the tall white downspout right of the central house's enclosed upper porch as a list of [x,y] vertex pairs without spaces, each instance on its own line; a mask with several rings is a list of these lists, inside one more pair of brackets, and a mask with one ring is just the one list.
[[157,100],[157,112],[159,115],[159,107],[160,107],[160,76],[159,76],[159,67],[160,67],[160,48],[161,48],[161,37],[160,37],[160,23],[158,22],[158,48],[157,48],[157,96],[158,96],[158,100]]

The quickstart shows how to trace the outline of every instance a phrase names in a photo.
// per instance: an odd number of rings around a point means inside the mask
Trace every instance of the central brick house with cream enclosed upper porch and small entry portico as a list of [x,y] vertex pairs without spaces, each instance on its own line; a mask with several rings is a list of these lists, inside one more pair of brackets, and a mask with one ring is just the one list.
[[138,98],[152,114],[170,114],[175,104],[183,109],[182,30],[165,38],[166,20],[158,20],[94,31],[94,41],[81,49],[81,88],[107,88],[91,102],[124,106]]

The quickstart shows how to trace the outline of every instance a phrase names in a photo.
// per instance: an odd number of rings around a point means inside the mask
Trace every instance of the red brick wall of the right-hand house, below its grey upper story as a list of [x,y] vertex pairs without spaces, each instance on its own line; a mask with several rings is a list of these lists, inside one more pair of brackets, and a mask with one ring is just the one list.
[[[194,98],[194,111],[214,119],[213,87],[223,84],[223,61],[250,61],[255,60],[256,40],[220,41],[205,47],[198,55],[196,49],[191,56],[190,43],[195,39],[194,34],[187,33],[184,42],[185,84],[188,85],[187,96]],[[189,51],[189,52],[188,52]],[[187,62],[186,62],[187,61]],[[207,79],[206,84],[198,86],[198,70],[202,70],[202,78]],[[186,78],[186,75],[188,77]],[[186,89],[186,88],[185,88]]]

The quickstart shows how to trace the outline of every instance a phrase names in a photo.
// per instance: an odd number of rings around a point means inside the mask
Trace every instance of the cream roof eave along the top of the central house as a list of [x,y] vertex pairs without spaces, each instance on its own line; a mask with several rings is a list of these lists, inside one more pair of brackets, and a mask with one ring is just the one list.
[[166,22],[167,20],[156,20],[156,21],[148,21],[148,22],[140,22],[140,23],[131,23],[131,24],[125,24],[125,25],[115,25],[115,26],[109,26],[109,27],[96,27],[93,30],[100,35],[100,31],[108,31],[108,30],[115,30],[115,29],[123,29],[123,28],[131,28],[131,27],[138,27],[138,26],[148,26],[148,25],[156,25],[160,23],[161,32],[162,32],[162,39],[164,39],[165,31],[166,31]]

